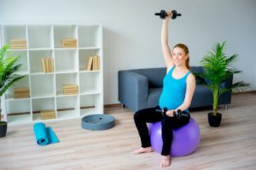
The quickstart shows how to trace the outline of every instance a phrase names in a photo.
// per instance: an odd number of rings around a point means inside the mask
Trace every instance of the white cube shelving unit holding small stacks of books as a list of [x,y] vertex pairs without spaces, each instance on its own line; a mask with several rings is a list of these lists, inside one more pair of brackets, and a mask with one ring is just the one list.
[[[103,114],[103,53],[101,25],[2,25],[1,45],[26,39],[20,75],[26,75],[6,92],[3,115],[9,125],[51,122]],[[62,48],[61,39],[77,39],[77,48]],[[100,56],[101,70],[86,71],[91,55]],[[44,73],[41,59],[54,59],[54,72]],[[78,94],[62,94],[62,85],[77,84]],[[29,88],[30,98],[14,99],[14,88]],[[54,110],[55,119],[41,120],[40,111]]]

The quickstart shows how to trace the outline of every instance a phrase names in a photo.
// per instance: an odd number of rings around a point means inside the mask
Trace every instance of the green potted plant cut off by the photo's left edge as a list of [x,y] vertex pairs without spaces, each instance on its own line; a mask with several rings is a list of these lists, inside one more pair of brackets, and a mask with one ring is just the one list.
[[[15,74],[20,70],[21,64],[18,62],[20,56],[13,56],[8,49],[9,44],[6,44],[0,50],[0,100],[8,88],[21,78],[26,77]],[[0,138],[5,136],[7,130],[7,122],[1,121],[1,112],[2,108],[0,105]]]

